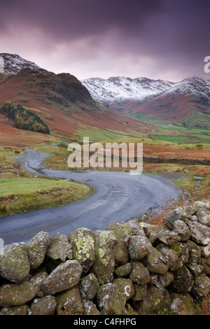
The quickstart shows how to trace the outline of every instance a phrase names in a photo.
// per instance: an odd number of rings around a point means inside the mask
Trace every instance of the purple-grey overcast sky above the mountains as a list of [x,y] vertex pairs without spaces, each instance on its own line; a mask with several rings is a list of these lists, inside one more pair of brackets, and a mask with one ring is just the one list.
[[209,0],[1,0],[0,52],[79,79],[210,80]]

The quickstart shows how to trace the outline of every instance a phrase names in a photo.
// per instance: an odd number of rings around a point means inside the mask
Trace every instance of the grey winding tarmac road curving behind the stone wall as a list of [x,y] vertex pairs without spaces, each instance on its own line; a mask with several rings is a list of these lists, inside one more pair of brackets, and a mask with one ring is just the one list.
[[63,207],[38,209],[0,218],[0,237],[4,244],[28,241],[41,230],[50,236],[69,235],[77,228],[106,230],[109,223],[127,221],[144,214],[150,207],[166,204],[179,195],[172,181],[153,175],[129,172],[59,171],[41,166],[48,153],[27,150],[18,159],[27,172],[87,183],[95,192],[82,201]]

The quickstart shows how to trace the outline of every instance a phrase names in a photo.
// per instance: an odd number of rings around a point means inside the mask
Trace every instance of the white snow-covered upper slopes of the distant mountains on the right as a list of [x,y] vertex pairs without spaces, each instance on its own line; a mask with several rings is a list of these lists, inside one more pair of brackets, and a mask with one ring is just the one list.
[[179,83],[149,78],[111,77],[109,79],[89,78],[81,81],[92,98],[102,104],[123,102],[124,100],[143,101],[149,97],[162,97],[164,94],[203,94],[210,97],[210,81],[201,78],[187,78]]

